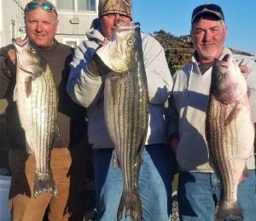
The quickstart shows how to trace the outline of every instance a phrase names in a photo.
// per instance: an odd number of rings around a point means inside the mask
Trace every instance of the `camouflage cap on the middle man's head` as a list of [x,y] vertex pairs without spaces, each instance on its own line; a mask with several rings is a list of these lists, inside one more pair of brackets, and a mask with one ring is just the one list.
[[131,18],[131,0],[100,0],[98,7],[99,18],[112,13],[124,14]]

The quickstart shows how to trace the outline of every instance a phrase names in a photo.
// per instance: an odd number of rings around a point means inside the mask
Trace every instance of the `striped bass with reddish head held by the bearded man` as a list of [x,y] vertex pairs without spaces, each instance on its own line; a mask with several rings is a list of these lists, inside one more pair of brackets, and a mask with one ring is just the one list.
[[247,82],[229,54],[212,67],[207,111],[210,163],[223,187],[218,219],[242,218],[237,186],[248,177],[246,159],[252,155],[254,127],[247,97]]

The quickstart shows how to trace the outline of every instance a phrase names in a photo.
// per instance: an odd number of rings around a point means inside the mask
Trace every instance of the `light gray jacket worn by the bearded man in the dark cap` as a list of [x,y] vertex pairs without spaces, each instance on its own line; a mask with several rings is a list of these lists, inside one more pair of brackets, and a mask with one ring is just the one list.
[[[224,54],[232,54],[224,48]],[[256,63],[253,59],[240,54],[232,54],[238,65],[247,65],[249,69],[247,85],[250,89],[250,106],[253,122],[256,122]],[[173,89],[168,110],[170,136],[179,134],[177,163],[181,171],[212,173],[209,165],[208,148],[205,134],[205,121],[212,67],[203,75],[195,58],[173,76]],[[247,159],[247,168],[253,169],[254,156]]]

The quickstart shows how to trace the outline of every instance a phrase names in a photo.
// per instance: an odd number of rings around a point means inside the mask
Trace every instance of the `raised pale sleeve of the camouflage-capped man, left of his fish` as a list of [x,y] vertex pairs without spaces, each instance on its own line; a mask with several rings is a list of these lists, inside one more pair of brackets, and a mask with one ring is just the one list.
[[102,77],[96,77],[90,73],[86,66],[95,53],[96,48],[96,43],[89,48],[86,41],[81,42],[75,50],[73,61],[71,62],[67,93],[74,102],[84,107],[96,105],[102,99]]

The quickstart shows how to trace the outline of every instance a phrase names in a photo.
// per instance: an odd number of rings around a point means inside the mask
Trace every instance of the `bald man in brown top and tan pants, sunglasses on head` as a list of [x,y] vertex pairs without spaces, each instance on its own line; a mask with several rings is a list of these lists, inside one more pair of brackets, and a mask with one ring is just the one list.
[[[58,93],[58,127],[60,137],[51,152],[50,165],[57,195],[43,192],[33,196],[35,157],[26,153],[26,139],[13,100],[15,88],[15,51],[13,45],[0,49],[0,98],[7,99],[6,133],[9,138],[9,162],[12,171],[9,208],[12,220],[83,220],[84,150],[86,149],[86,112],[67,94],[66,84],[73,58],[73,48],[55,40],[58,14],[45,0],[26,4],[26,36],[35,42],[53,73]],[[87,146],[88,147],[88,146]]]

